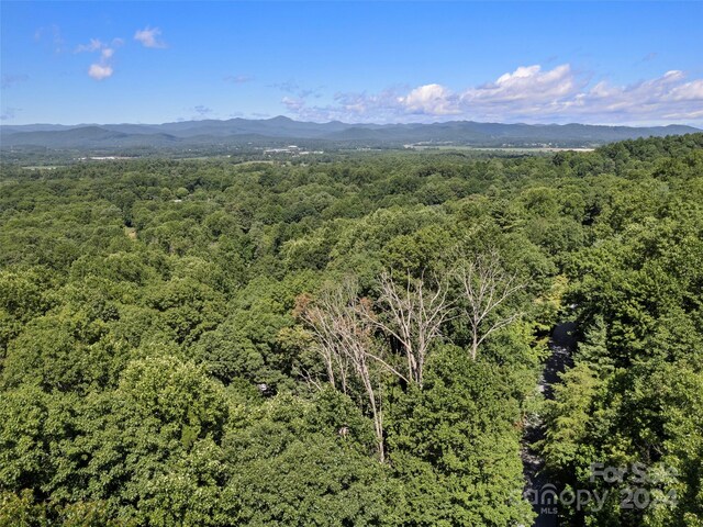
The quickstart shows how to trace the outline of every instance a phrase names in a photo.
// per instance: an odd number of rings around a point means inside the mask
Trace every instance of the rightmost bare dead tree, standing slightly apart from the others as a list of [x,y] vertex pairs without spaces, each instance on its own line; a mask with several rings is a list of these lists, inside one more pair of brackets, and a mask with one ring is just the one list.
[[472,258],[460,258],[454,274],[467,301],[465,315],[471,329],[471,359],[476,360],[481,344],[496,330],[520,318],[521,313],[494,316],[498,309],[526,284],[516,273],[507,273],[495,248]]

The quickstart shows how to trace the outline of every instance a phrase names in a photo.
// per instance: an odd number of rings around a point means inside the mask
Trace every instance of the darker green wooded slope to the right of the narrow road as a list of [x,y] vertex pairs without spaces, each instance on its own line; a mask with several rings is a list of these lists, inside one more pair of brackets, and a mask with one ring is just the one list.
[[[549,407],[548,467],[573,489],[640,489],[659,503],[574,514],[587,525],[701,525],[703,210],[699,137],[601,152],[621,178],[600,198],[593,243],[569,257],[581,338]],[[696,149],[699,148],[699,149]],[[669,157],[671,156],[671,157]],[[671,169],[671,167],[676,167]],[[657,482],[590,479],[643,463]],[[678,474],[678,475],[674,475]],[[666,500],[665,500],[666,498]]]

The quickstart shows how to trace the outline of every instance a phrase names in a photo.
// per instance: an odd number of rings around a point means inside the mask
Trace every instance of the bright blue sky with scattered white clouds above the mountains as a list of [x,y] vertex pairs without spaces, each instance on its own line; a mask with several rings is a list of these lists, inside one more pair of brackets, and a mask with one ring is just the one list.
[[2,124],[703,125],[703,2],[1,2]]

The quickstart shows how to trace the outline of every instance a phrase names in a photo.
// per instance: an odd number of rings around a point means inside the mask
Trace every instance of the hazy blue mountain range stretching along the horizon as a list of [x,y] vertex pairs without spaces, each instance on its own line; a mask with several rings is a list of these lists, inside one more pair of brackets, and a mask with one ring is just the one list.
[[434,124],[346,124],[267,120],[203,120],[165,124],[2,125],[0,148],[54,149],[186,148],[205,145],[282,143],[398,146],[447,144],[477,147],[588,147],[637,137],[701,132],[683,125],[632,127],[588,124],[500,124],[453,121]]

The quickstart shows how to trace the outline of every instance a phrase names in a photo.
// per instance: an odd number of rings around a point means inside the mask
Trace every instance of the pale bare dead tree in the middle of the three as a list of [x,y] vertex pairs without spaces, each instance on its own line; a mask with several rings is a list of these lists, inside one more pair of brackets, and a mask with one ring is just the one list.
[[392,272],[383,272],[380,284],[378,303],[383,307],[382,316],[376,316],[370,310],[361,314],[400,343],[408,368],[408,374],[400,377],[422,386],[429,346],[442,336],[442,325],[451,310],[447,300],[447,282],[439,280],[433,290],[425,287],[424,276],[416,280],[408,272],[399,283]]

